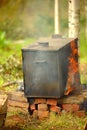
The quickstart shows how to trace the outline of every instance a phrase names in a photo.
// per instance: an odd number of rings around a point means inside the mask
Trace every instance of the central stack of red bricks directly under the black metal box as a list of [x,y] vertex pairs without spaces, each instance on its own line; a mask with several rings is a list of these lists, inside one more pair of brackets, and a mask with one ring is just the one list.
[[57,106],[57,99],[35,98],[33,104],[29,105],[29,111],[34,118],[47,118],[50,112],[60,113],[60,107]]

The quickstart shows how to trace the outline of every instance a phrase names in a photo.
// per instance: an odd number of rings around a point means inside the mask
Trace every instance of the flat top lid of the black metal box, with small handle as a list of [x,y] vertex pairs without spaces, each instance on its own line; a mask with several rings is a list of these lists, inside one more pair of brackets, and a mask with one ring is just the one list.
[[57,51],[69,44],[74,38],[40,38],[36,43],[29,45],[22,50],[42,50],[42,51]]

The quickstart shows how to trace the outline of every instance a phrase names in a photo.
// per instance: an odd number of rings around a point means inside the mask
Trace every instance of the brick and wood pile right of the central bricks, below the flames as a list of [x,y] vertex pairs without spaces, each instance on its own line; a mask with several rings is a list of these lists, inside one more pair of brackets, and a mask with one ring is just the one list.
[[59,104],[61,104],[62,110],[84,117],[87,112],[87,91],[60,99]]

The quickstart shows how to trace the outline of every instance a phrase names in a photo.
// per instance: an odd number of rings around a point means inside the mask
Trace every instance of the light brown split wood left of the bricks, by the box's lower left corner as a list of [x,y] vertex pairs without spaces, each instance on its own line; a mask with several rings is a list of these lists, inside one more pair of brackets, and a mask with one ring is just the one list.
[[23,92],[9,92],[8,93],[8,112],[15,109],[18,109],[21,112],[28,112],[29,103],[27,102],[27,98],[24,97]]

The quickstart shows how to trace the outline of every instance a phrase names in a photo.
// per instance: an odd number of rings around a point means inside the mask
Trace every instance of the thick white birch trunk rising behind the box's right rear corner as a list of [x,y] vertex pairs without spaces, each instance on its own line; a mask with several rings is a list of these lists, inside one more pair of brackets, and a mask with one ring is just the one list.
[[79,37],[80,0],[69,0],[69,37]]

